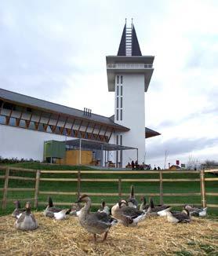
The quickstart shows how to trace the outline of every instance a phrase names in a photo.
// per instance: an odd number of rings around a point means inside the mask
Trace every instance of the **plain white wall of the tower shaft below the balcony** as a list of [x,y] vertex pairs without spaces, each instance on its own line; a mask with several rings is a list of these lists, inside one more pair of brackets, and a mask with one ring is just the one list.
[[[144,118],[144,75],[119,74],[123,76],[123,113],[122,121],[116,119],[116,97],[114,122],[129,127],[129,132],[122,134],[122,144],[138,148],[138,161],[144,162],[145,156],[145,118]],[[116,82],[116,81],[115,81]],[[116,85],[115,85],[116,88]],[[116,92],[115,92],[116,95]],[[115,142],[115,141],[114,141]],[[125,150],[122,153],[123,166],[133,159],[136,161],[136,150]]]

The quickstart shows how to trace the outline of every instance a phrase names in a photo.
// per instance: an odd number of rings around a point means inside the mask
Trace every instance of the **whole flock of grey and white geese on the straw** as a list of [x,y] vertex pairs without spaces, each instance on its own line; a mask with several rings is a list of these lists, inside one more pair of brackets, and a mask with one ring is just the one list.
[[[38,228],[38,222],[34,214],[31,213],[31,203],[27,202],[24,208],[20,207],[20,202],[16,200],[13,218],[16,218],[15,228],[20,230],[34,230]],[[81,204],[83,203],[83,204]],[[55,220],[64,220],[67,215],[76,216],[79,224],[84,229],[93,234],[96,241],[96,235],[104,234],[104,240],[107,239],[107,233],[113,225],[121,223],[125,227],[136,226],[140,221],[152,216],[165,217],[171,223],[187,223],[191,221],[191,216],[205,217],[207,208],[197,208],[191,205],[184,205],[182,211],[172,210],[167,205],[154,205],[152,198],[149,204],[146,198],[141,198],[140,205],[134,196],[134,187],[131,186],[129,199],[119,199],[113,207],[108,207],[105,201],[101,202],[101,207],[96,212],[91,212],[91,199],[87,195],[78,198],[71,209],[61,209],[53,205],[51,197],[48,198],[48,205],[43,211],[45,218]]]

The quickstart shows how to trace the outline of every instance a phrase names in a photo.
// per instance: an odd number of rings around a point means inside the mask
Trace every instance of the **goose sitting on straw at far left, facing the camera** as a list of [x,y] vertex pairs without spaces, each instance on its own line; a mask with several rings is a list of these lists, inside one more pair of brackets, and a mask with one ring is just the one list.
[[35,220],[34,214],[31,214],[31,203],[27,202],[25,211],[15,222],[15,228],[20,230],[34,230],[38,228],[38,223]]

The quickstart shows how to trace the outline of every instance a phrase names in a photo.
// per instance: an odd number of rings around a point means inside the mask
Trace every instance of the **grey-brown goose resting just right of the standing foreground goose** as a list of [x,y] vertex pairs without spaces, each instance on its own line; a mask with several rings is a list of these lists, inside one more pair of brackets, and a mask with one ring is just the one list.
[[144,211],[129,207],[126,201],[124,203],[124,200],[119,200],[119,202],[111,208],[111,214],[126,227],[129,227],[129,225],[136,226],[139,221],[143,221],[146,217]]

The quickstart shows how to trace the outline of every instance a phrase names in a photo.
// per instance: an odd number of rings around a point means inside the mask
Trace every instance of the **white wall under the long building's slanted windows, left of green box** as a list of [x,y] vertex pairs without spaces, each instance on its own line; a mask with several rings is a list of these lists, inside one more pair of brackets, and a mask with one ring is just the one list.
[[[0,125],[0,156],[43,160],[44,141],[64,141],[63,135]],[[67,140],[74,139],[67,137]]]

